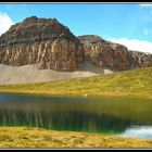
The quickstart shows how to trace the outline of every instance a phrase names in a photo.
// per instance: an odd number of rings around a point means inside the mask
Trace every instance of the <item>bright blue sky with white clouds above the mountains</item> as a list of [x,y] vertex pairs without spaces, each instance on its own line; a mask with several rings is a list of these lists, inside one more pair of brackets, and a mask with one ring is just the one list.
[[0,4],[0,35],[26,17],[56,18],[75,36],[98,35],[152,53],[151,4]]

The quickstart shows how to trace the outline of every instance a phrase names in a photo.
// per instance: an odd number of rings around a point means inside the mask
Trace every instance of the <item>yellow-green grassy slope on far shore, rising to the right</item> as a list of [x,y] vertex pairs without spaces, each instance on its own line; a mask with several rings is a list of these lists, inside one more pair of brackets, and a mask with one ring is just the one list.
[[152,98],[152,67],[26,85],[1,85],[1,92],[41,94],[136,96]]

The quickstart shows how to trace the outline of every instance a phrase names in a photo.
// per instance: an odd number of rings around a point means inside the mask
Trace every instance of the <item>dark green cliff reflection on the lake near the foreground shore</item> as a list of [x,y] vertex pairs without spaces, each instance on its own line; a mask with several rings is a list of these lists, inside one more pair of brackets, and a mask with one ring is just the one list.
[[47,129],[78,130],[92,132],[121,132],[129,121],[114,116],[85,112],[23,112],[0,111],[0,126],[36,126]]

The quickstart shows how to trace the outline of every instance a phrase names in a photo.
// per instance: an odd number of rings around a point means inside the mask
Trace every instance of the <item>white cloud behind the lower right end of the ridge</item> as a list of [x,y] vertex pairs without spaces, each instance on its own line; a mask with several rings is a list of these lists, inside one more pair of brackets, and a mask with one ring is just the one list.
[[119,39],[112,38],[109,40],[112,42],[124,45],[129,50],[152,53],[152,42],[149,42],[149,41],[142,41],[138,39],[128,39],[128,38],[119,38]]

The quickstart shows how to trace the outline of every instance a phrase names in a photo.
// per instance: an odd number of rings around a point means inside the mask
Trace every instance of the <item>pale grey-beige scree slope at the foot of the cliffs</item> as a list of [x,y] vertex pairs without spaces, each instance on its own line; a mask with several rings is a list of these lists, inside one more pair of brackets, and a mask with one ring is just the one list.
[[75,72],[58,72],[53,69],[37,69],[36,65],[10,66],[0,64],[0,85],[30,84],[89,77],[106,74],[111,71],[100,69],[96,65],[85,62]]

